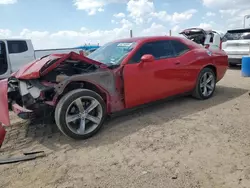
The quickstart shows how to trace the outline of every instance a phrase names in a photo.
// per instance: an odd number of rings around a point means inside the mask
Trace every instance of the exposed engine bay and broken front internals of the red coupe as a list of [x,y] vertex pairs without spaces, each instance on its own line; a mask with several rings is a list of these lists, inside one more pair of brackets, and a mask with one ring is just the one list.
[[[53,60],[55,62],[56,60]],[[50,64],[50,62],[48,62]],[[46,64],[48,65],[48,64]],[[45,67],[46,67],[45,65]],[[63,80],[73,75],[82,75],[95,72],[98,65],[84,63],[76,60],[65,60],[48,74],[37,79],[17,79],[14,76],[8,80],[8,104],[12,109],[13,104],[32,110],[32,114],[50,113],[56,95],[55,87]],[[28,119],[19,114],[21,118]]]

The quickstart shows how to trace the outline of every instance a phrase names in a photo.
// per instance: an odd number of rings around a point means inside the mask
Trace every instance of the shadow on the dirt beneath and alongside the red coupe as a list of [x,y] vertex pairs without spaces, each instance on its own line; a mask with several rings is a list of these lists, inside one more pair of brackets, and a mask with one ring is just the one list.
[[[103,128],[92,138],[82,141],[75,141],[62,135],[55,124],[24,124],[18,126],[18,131],[7,130],[10,136],[7,145],[3,150],[11,149],[25,150],[32,148],[38,150],[38,145],[50,151],[58,151],[67,148],[68,150],[81,147],[98,147],[101,145],[115,143],[122,138],[134,134],[150,125],[161,125],[174,119],[220,105],[248,92],[240,88],[217,86],[214,96],[208,100],[196,100],[192,97],[178,97],[172,100],[161,100],[150,105],[132,111],[124,111],[121,114],[108,119]],[[156,118],[155,118],[156,117]],[[12,131],[12,132],[11,132]],[[20,133],[20,131],[22,133]],[[15,142],[13,142],[13,139]],[[34,147],[32,147],[34,145]],[[38,148],[37,148],[38,147]]]

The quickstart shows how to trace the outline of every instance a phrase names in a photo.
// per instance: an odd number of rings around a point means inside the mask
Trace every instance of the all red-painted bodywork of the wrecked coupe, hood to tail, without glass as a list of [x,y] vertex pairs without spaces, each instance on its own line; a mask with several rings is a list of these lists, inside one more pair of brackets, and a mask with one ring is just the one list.
[[[186,44],[190,48],[190,51],[178,57],[160,60],[156,60],[152,55],[146,54],[142,57],[142,62],[128,64],[131,57],[143,44],[159,40],[178,40]],[[122,61],[120,67],[110,70],[116,79],[115,93],[108,93],[105,88],[100,87],[98,83],[92,80],[70,80],[70,82],[86,81],[94,84],[106,95],[107,112],[109,114],[123,110],[124,108],[131,108],[176,94],[190,92],[195,87],[200,71],[206,66],[216,68],[217,81],[219,81],[223,78],[228,67],[228,59],[224,51],[207,50],[199,44],[184,38],[169,36],[141,37],[115,42],[137,42],[136,48]],[[41,69],[43,69],[48,61],[56,58],[59,59],[41,72]],[[107,69],[107,66],[100,62],[71,52],[66,55],[54,54],[41,60],[36,60],[24,66],[14,75],[19,79],[36,79],[46,75],[66,59],[82,60],[83,62],[96,64],[101,66],[101,68]],[[9,125],[6,80],[0,81],[0,88],[0,122]],[[63,92],[63,89],[61,92]],[[58,93],[58,95],[60,94]],[[56,105],[58,95],[54,96],[53,101],[47,101],[47,103]]]

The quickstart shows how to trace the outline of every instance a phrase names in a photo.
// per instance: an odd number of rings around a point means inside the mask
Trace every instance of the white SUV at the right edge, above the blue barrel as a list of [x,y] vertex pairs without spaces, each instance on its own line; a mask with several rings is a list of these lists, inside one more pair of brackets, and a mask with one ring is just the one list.
[[242,57],[250,55],[250,28],[228,30],[222,41],[230,66],[240,65]]

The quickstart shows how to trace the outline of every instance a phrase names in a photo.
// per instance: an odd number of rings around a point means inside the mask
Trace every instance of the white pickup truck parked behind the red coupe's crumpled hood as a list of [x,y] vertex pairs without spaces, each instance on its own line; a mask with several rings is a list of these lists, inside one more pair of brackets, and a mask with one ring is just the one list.
[[31,40],[0,39],[0,79],[7,78],[23,65],[53,53],[82,53],[80,48],[34,50]]

